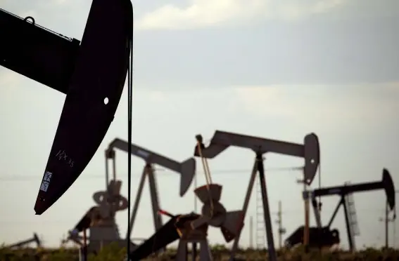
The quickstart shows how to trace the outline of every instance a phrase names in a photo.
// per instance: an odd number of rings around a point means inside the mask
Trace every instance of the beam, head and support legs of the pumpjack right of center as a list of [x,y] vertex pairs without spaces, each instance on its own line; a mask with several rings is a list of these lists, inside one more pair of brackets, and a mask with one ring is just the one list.
[[[289,156],[296,156],[305,159],[305,166],[303,167],[303,180],[305,184],[310,185],[315,178],[317,168],[319,168],[319,139],[315,133],[305,135],[303,144],[284,142],[281,140],[271,140],[266,138],[259,138],[250,135],[243,135],[238,133],[229,133],[226,131],[215,131],[213,138],[210,140],[208,147],[203,144],[203,137],[196,136],[197,146],[194,149],[194,156],[201,157],[204,162],[206,159],[213,159],[215,156],[224,152],[229,147],[241,147],[251,149],[255,152],[255,162],[253,163],[251,178],[248,183],[246,197],[243,202],[243,215],[246,215],[249,201],[251,199],[251,192],[255,178],[258,174],[260,180],[260,191],[262,192],[263,218],[265,221],[265,234],[267,237],[267,251],[268,258],[271,261],[277,260],[277,253],[274,248],[274,239],[272,232],[272,222],[270,221],[270,206],[267,195],[267,186],[265,178],[264,157],[266,153],[285,154]],[[305,208],[307,201],[305,201]],[[305,218],[306,220],[306,218]],[[241,231],[241,230],[240,230]],[[240,233],[234,239],[232,251],[229,260],[235,259],[235,253],[239,246]]]

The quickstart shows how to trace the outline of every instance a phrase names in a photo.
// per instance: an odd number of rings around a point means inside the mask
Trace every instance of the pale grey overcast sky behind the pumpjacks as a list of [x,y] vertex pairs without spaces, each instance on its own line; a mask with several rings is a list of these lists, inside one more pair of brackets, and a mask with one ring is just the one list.
[[[0,8],[22,17],[31,15],[39,25],[81,39],[90,4],[3,0]],[[380,180],[382,168],[388,168],[399,187],[397,0],[137,0],[133,4],[135,143],[182,161],[191,156],[197,133],[205,140],[219,129],[303,142],[307,133],[315,132],[321,143],[323,186]],[[103,150],[113,138],[127,139],[126,93],[84,173],[53,207],[35,216],[34,201],[65,96],[4,68],[0,68],[0,86],[0,208],[6,211],[0,216],[0,241],[12,243],[37,232],[46,245],[57,246],[93,206],[91,195],[105,188]],[[228,209],[242,207],[249,173],[217,170],[249,171],[253,156],[247,150],[229,149],[210,161],[214,182],[224,185],[222,202]],[[118,152],[117,157],[126,195],[127,156]],[[138,159],[133,163],[134,196],[144,163]],[[200,163],[198,185],[205,182]],[[292,167],[303,160],[270,154],[265,164]],[[174,213],[194,210],[194,186],[180,199],[177,176],[163,171],[158,178],[163,208]],[[296,171],[267,173],[273,220],[277,202],[282,201],[288,234],[303,223],[297,178]],[[241,237],[244,246],[249,243],[249,216],[256,217],[255,193]],[[147,189],[145,194],[134,237],[153,233]],[[384,244],[384,224],[379,222],[384,200],[384,192],[355,194],[357,246]],[[327,224],[338,198],[325,198],[323,203]],[[122,236],[126,222],[127,212],[118,213]],[[347,246],[342,210],[333,227],[340,229]],[[217,229],[210,232],[210,242],[223,242]]]

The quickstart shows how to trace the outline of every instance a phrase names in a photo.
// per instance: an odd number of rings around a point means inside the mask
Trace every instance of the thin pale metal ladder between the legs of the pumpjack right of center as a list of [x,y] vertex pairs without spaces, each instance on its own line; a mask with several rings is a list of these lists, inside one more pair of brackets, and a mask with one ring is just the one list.
[[262,192],[259,177],[256,178],[256,225],[255,242],[257,249],[266,248],[265,220],[263,216]]

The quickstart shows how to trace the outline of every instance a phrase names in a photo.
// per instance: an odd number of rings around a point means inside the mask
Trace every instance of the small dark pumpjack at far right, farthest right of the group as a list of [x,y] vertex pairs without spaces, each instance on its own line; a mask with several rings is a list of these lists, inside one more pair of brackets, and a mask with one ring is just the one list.
[[[331,229],[332,222],[338,213],[339,208],[343,206],[346,232],[348,234],[348,244],[350,250],[355,250],[354,243],[354,230],[353,224],[350,222],[350,213],[348,206],[348,196],[356,192],[367,192],[372,190],[384,189],[386,193],[386,201],[388,202],[388,207],[391,211],[395,211],[395,186],[391,178],[391,174],[386,168],[382,171],[382,180],[376,182],[365,182],[357,184],[346,184],[343,186],[336,187],[324,187],[319,189],[314,189],[312,191],[303,192],[304,199],[310,199],[312,201],[312,207],[315,213],[315,220],[317,222],[317,227],[310,227],[310,241],[309,246],[315,248],[330,247],[334,244],[340,243],[338,229]],[[322,221],[320,218],[320,209],[317,206],[316,198],[319,196],[331,196],[338,195],[341,197],[338,201],[333,215],[331,216],[327,226],[322,227]],[[303,230],[304,227],[299,227],[293,234],[291,234],[285,241],[287,248],[291,248],[298,244],[303,243]]]

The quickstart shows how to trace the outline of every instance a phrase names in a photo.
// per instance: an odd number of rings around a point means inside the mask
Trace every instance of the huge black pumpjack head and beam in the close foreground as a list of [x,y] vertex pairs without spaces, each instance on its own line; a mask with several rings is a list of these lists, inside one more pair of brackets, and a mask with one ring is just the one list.
[[0,9],[0,65],[66,94],[34,210],[41,215],[79,177],[118,107],[131,59],[130,0],[93,0],[82,42]]

